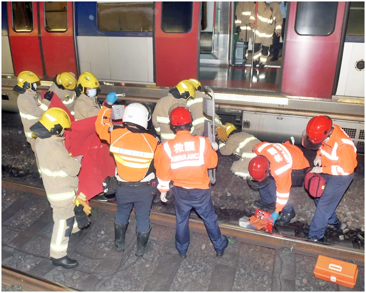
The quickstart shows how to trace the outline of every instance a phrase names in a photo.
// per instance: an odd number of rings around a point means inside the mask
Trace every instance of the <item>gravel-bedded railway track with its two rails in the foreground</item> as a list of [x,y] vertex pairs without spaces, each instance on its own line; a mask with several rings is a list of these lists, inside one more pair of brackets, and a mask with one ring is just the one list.
[[116,205],[93,200],[91,226],[81,237],[70,238],[69,254],[79,259],[79,267],[54,267],[48,259],[52,211],[45,191],[6,180],[1,185],[9,199],[2,211],[2,285],[13,289],[323,291],[331,286],[331,291],[344,291],[314,277],[316,257],[324,255],[356,263],[359,277],[352,291],[364,291],[364,251],[220,224],[223,234],[238,241],[216,258],[203,222],[191,217],[191,245],[187,259],[180,259],[174,247],[175,216],[159,211],[151,211],[153,250],[142,258],[134,256],[136,224],[131,213],[126,251],[117,253],[111,224]]

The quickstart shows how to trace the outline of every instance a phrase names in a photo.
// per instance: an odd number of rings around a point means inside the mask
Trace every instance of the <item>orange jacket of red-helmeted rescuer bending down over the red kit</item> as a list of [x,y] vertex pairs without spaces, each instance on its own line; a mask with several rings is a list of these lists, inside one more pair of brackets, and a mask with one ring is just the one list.
[[302,151],[295,145],[285,143],[261,142],[253,147],[257,155],[264,155],[270,163],[270,173],[276,182],[276,212],[280,212],[289,200],[292,170],[310,167]]

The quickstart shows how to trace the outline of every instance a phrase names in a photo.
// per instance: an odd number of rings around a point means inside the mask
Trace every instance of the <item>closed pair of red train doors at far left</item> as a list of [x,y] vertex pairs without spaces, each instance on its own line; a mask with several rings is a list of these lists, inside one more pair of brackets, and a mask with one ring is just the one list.
[[7,2],[15,74],[35,72],[53,78],[76,72],[72,2]]

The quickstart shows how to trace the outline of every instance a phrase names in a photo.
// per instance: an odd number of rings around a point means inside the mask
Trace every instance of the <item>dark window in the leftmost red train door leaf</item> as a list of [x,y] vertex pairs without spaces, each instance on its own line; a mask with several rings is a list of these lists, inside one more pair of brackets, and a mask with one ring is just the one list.
[[33,31],[32,2],[12,2],[13,29],[16,32]]

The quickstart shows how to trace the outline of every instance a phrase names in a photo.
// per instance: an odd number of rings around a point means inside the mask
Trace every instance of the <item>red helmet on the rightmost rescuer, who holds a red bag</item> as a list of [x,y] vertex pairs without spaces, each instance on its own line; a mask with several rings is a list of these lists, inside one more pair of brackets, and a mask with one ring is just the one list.
[[331,118],[316,116],[310,119],[306,130],[302,133],[302,145],[309,149],[318,149],[329,136],[332,129]]

